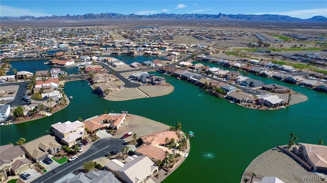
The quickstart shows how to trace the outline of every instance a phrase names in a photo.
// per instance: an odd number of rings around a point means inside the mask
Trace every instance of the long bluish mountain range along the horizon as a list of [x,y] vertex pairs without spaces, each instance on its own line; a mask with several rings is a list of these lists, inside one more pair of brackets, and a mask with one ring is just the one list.
[[123,15],[118,13],[101,13],[85,15],[65,15],[65,16],[19,16],[19,17],[0,17],[0,20],[92,20],[92,19],[116,19],[116,20],[146,20],[146,19],[206,19],[206,20],[247,20],[247,21],[292,21],[292,22],[325,22],[324,16],[314,16],[309,19],[294,18],[286,15],[226,15],[219,13],[213,14],[153,14],[153,15]]

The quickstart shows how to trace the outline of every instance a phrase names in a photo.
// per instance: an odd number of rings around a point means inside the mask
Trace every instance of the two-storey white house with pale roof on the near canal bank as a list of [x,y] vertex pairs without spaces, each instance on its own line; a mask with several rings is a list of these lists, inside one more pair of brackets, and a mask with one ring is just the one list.
[[60,141],[72,147],[85,137],[84,123],[76,120],[74,122],[66,121],[64,123],[58,122],[51,125],[52,133],[60,139]]

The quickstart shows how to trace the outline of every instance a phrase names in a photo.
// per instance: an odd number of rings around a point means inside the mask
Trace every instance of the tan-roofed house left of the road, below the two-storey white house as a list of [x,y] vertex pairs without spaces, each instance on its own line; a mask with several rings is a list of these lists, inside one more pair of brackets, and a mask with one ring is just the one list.
[[45,135],[21,145],[22,150],[34,162],[40,162],[49,154],[57,153],[61,145],[51,135]]

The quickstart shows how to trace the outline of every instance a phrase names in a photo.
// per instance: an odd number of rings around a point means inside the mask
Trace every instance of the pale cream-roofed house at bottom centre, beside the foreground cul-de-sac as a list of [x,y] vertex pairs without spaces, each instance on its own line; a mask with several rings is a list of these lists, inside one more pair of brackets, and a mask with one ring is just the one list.
[[105,168],[126,183],[141,183],[159,171],[148,156],[132,155],[122,163],[116,159],[109,160]]

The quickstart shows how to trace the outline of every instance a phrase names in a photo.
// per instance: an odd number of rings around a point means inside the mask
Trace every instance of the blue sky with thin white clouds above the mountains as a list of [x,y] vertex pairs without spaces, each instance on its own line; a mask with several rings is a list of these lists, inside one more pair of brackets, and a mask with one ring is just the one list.
[[87,13],[120,13],[128,15],[174,14],[278,14],[297,18],[316,15],[327,17],[327,1],[0,1],[0,16],[84,15]]

